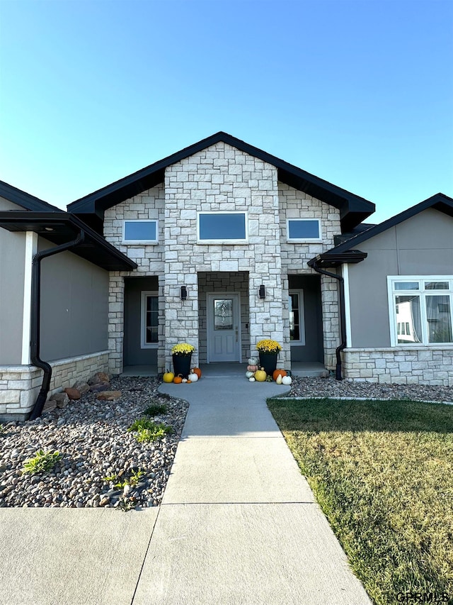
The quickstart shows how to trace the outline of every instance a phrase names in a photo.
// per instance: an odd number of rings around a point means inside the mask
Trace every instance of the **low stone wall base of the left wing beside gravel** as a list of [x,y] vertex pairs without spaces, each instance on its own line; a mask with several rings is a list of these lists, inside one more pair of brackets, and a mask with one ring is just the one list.
[[[49,396],[77,380],[108,370],[108,351],[51,362]],[[34,365],[0,366],[0,421],[26,420],[40,392],[42,370]]]

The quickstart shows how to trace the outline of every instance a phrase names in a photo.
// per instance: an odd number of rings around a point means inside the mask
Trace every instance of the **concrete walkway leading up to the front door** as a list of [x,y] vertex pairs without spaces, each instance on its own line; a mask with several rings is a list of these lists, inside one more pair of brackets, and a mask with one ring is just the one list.
[[0,509],[1,605],[369,605],[265,398],[206,377],[160,508]]

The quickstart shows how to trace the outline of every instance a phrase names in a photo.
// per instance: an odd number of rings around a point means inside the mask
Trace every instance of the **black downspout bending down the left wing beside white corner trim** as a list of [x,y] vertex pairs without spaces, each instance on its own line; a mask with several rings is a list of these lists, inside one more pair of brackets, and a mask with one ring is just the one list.
[[30,358],[33,365],[40,367],[41,370],[44,370],[44,376],[42,377],[41,390],[36,398],[35,405],[33,406],[33,410],[30,414],[30,420],[35,420],[41,416],[42,408],[44,407],[47,394],[50,389],[50,379],[52,379],[52,366],[40,358],[41,260],[43,258],[47,258],[48,256],[58,254],[59,252],[64,252],[64,250],[75,248],[76,245],[81,244],[84,239],[85,232],[81,230],[75,240],[55,246],[55,248],[49,248],[48,250],[37,252],[33,257],[31,277]]

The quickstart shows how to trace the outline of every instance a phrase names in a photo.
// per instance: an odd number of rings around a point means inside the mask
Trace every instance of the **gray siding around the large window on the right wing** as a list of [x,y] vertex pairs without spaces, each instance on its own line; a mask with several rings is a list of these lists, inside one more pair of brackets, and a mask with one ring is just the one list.
[[349,346],[389,347],[387,276],[452,275],[453,218],[428,209],[357,248],[368,257],[349,267]]

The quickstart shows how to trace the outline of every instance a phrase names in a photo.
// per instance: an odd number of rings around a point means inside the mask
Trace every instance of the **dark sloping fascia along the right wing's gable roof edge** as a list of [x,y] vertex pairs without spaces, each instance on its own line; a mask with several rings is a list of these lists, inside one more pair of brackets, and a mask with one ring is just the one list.
[[362,233],[358,233],[354,237],[349,240],[338,244],[335,248],[331,248],[328,250],[326,254],[336,254],[338,252],[346,252],[351,248],[355,248],[355,246],[359,245],[370,238],[374,238],[374,235],[379,235],[379,233],[383,233],[387,229],[402,223],[403,221],[407,221],[408,218],[415,216],[428,208],[434,208],[435,210],[439,210],[440,212],[444,212],[449,216],[453,216],[453,199],[445,194],[438,193],[435,194],[424,201],[420,201],[420,204],[415,204],[415,206],[411,206],[407,210],[388,218],[383,223],[379,223],[379,225],[375,225],[367,229],[366,231],[362,231]]

